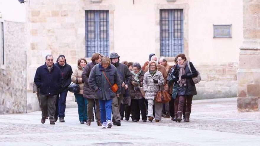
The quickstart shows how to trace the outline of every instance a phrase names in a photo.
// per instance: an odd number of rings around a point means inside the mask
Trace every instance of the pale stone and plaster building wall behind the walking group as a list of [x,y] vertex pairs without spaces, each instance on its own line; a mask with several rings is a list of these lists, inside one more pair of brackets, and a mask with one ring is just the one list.
[[[238,48],[243,39],[242,0],[27,0],[24,5],[27,112],[39,109],[32,84],[36,68],[45,62],[45,55],[52,54],[55,59],[64,54],[73,70],[78,58],[86,57],[90,61],[86,34],[90,28],[86,20],[88,12],[107,13],[105,30],[109,35],[103,43],[107,43],[108,49],[102,53],[116,52],[121,61],[141,64],[148,60],[150,53],[163,56],[161,12],[181,12],[180,19],[175,19],[181,23],[178,24],[182,33],[181,52],[202,76],[194,98],[235,97],[237,94]],[[232,24],[232,37],[213,37],[213,25],[219,24]],[[168,63],[173,63],[174,55],[166,58]],[[73,106],[73,100],[73,94],[69,93],[67,103]]]

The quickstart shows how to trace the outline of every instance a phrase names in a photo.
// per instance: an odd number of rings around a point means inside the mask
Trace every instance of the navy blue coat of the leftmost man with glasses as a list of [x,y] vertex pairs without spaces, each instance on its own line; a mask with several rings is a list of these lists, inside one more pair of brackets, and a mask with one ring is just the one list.
[[61,87],[61,70],[53,64],[51,72],[49,72],[46,63],[37,68],[34,83],[40,88],[41,95],[57,95]]

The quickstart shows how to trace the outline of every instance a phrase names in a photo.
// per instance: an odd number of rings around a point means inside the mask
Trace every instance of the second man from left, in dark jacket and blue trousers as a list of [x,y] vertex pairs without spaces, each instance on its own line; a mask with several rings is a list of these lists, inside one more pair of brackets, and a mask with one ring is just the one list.
[[73,73],[71,66],[66,63],[66,59],[64,55],[59,55],[55,65],[60,68],[62,83],[61,88],[57,94],[56,100],[56,112],[55,112],[55,122],[58,120],[58,116],[60,117],[60,122],[65,122],[65,109],[66,109],[66,97],[68,93],[68,88],[71,83],[71,75]]

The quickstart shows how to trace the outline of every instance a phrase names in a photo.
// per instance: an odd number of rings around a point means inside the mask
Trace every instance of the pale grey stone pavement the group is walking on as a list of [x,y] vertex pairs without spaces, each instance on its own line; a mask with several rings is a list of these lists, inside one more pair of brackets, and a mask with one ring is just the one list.
[[40,111],[0,115],[0,145],[259,145],[260,111],[238,113],[236,98],[195,100],[190,122],[121,121],[101,129],[79,124],[77,108],[66,109],[65,123],[41,124]]

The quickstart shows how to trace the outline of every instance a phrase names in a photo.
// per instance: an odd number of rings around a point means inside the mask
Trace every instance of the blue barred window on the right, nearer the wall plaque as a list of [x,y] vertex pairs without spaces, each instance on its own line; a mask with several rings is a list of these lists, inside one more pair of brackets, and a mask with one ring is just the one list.
[[160,56],[177,56],[183,47],[183,9],[161,9]]

